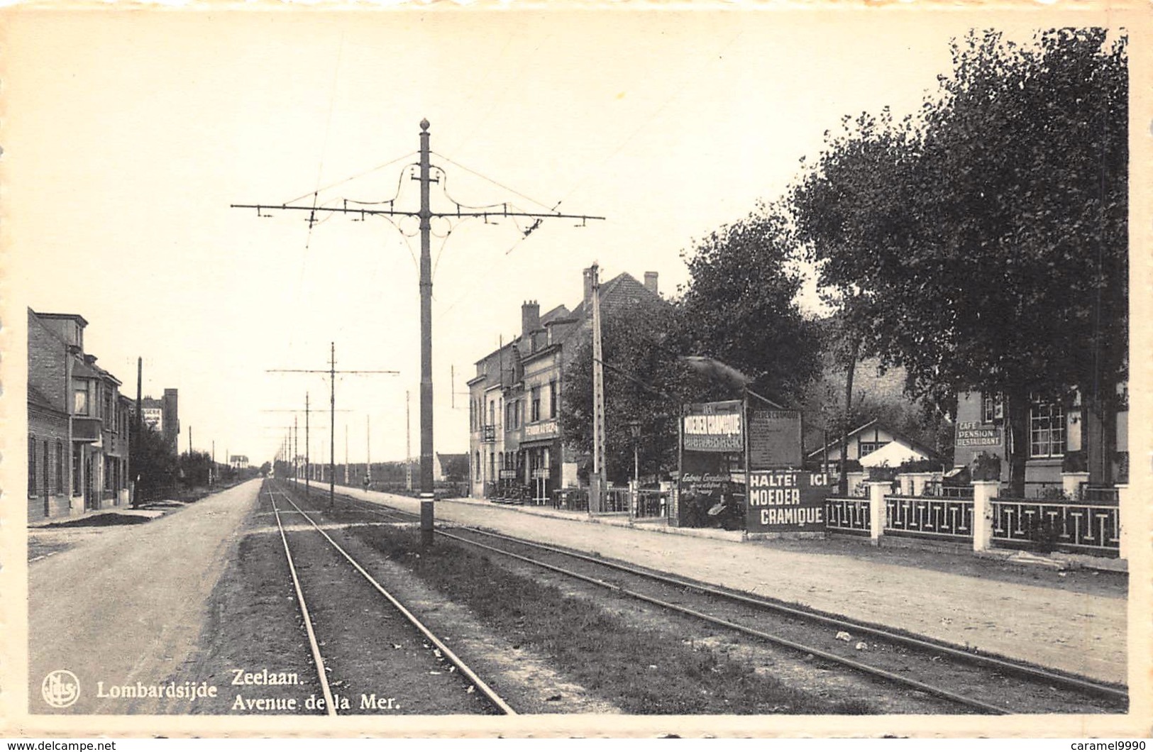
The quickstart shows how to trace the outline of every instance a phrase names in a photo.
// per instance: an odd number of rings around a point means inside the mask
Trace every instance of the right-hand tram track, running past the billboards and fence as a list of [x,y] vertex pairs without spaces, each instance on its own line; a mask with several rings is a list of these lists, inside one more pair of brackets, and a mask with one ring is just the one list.
[[[338,499],[342,510],[366,518],[419,520],[399,507],[347,495]],[[1124,713],[1128,708],[1123,686],[476,527],[442,525],[437,533],[590,588],[698,619],[739,639],[768,642],[807,660],[937,698],[954,712]]]

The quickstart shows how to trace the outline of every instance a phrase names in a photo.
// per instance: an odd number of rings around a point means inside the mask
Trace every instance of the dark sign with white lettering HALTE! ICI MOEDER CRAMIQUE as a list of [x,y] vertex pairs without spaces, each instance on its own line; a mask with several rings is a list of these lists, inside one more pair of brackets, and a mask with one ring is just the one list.
[[829,476],[800,469],[748,473],[749,533],[823,533]]

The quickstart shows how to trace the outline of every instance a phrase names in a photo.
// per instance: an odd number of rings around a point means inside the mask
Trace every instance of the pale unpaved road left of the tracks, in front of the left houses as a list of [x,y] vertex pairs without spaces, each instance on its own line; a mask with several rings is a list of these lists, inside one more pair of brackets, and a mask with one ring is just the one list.
[[[105,528],[29,566],[29,712],[156,713],[172,699],[98,697],[166,682],[195,648],[208,597],[235,550],[261,481],[145,525]],[[54,709],[44,678],[65,669],[80,697]]]

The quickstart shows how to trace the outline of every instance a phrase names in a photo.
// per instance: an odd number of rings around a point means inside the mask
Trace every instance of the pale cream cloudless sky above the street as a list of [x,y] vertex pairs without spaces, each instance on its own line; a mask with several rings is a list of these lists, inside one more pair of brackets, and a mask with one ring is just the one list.
[[[715,8],[715,6],[713,6]],[[1040,7],[1035,6],[1040,12]],[[1052,10],[1046,13],[1052,14]],[[681,251],[779,196],[843,115],[913,112],[972,27],[1016,38],[1054,16],[813,12],[6,12],[5,299],[76,313],[86,351],[136,393],[180,392],[218,460],[271,460],[327,377],[336,459],[419,454],[413,220],[354,221],[233,203],[341,200],[415,209],[420,121],[434,209],[511,202],[603,216],[434,223],[435,448],[468,448],[466,381],[519,334],[520,306],[602,279],[660,275]],[[1090,12],[1075,23],[1115,23]],[[451,196],[451,200],[446,197]],[[538,202],[538,203],[536,203]],[[812,299],[806,301],[812,306]],[[20,324],[23,328],[23,323]],[[329,456],[312,413],[311,454]],[[303,445],[304,416],[299,415]],[[369,435],[368,427],[371,427]],[[303,448],[302,448],[303,451]]]

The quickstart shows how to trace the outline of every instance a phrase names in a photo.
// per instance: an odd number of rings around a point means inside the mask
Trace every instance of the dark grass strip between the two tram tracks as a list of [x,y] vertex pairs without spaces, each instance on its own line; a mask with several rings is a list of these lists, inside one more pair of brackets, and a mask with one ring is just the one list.
[[532,647],[630,714],[862,714],[861,700],[828,700],[758,674],[745,661],[636,627],[585,599],[565,595],[493,563],[488,554],[437,541],[423,550],[412,531],[352,528],[427,585],[468,607],[515,646]]

